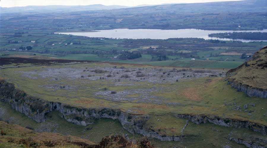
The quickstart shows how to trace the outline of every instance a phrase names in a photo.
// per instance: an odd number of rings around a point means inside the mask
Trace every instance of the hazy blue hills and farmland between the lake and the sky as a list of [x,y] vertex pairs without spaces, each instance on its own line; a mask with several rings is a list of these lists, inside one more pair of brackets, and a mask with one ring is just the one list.
[[7,29],[2,33],[7,34],[11,28],[21,29],[23,25],[29,30],[46,30],[46,33],[115,28],[263,30],[267,28],[266,9],[265,3],[254,0],[130,8],[104,5],[2,7],[1,14],[5,15],[1,16],[0,23],[1,29]]

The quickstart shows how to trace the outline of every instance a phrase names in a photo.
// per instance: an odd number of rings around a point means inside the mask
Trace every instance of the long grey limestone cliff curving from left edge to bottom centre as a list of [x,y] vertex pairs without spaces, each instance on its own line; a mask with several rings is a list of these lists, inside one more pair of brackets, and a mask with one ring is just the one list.
[[29,96],[4,80],[0,82],[0,98],[2,102],[9,103],[13,109],[38,123],[45,121],[45,115],[48,112],[59,111],[62,118],[81,126],[93,124],[96,119],[110,118],[119,120],[123,128],[130,133],[139,133],[162,141],[180,141],[181,139],[180,136],[162,136],[155,131],[144,128],[146,121],[150,118],[149,115],[133,115],[110,108],[87,109],[72,107],[60,102],[49,102]]

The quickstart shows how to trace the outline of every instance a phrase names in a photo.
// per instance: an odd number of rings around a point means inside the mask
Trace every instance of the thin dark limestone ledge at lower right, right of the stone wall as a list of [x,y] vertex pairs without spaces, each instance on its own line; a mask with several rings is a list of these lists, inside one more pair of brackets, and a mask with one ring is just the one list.
[[267,134],[267,126],[253,123],[250,121],[232,119],[232,118],[220,118],[213,115],[192,115],[192,114],[177,114],[178,118],[188,119],[189,121],[200,124],[200,123],[214,123],[219,126],[234,127],[234,128],[248,128],[253,131]]

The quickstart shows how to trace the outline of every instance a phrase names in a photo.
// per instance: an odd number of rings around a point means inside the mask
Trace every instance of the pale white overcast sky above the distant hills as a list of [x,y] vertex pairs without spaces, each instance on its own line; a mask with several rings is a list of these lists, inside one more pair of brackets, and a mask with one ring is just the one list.
[[17,7],[29,5],[123,5],[137,6],[142,4],[163,3],[200,3],[212,1],[239,1],[239,0],[1,0],[1,7]]

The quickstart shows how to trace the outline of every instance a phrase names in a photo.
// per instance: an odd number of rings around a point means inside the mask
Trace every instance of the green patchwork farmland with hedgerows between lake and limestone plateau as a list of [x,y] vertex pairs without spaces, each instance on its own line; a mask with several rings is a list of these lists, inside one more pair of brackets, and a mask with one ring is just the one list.
[[[16,32],[18,31],[23,30],[17,30]],[[252,55],[266,44],[265,42],[240,43],[233,41],[213,43],[200,38],[167,40],[100,39],[44,33],[44,30],[31,30],[22,34],[21,37],[4,35],[0,36],[0,38],[0,57],[42,59],[55,57],[59,59],[209,69],[238,67],[248,60],[248,58],[240,58],[242,53]],[[32,43],[31,41],[35,42]],[[32,50],[26,51],[25,48],[27,46],[31,46]],[[21,47],[24,47],[24,49],[20,49]],[[119,59],[119,55],[125,51],[141,52],[142,57],[126,60]],[[238,55],[231,55],[232,52]],[[230,55],[227,55],[227,53],[230,53]],[[167,60],[151,61],[152,56],[156,57],[158,55],[166,55]],[[190,61],[192,58],[195,58],[196,61]]]

